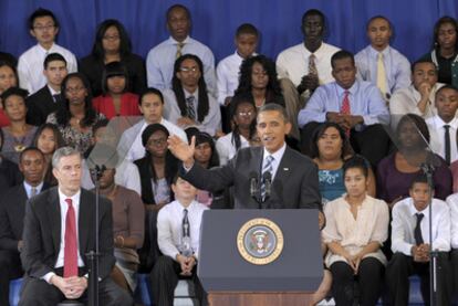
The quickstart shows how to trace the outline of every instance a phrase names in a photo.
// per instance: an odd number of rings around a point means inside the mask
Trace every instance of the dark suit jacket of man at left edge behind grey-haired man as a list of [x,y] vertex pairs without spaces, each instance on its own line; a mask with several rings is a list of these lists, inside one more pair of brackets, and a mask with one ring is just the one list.
[[[49,188],[43,183],[41,192]],[[28,201],[23,183],[9,189],[0,201],[0,250],[18,251],[18,241],[22,240],[22,230]]]

